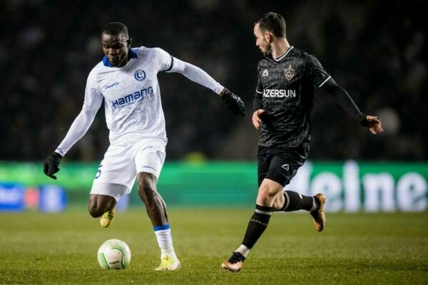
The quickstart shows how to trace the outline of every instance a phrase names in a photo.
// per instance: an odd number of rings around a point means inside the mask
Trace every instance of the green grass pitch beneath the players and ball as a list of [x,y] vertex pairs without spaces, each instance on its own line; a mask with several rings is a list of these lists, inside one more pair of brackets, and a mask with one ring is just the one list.
[[[153,271],[159,249],[143,208],[103,229],[84,209],[0,214],[0,284],[427,284],[428,212],[327,214],[317,233],[308,214],[274,214],[239,273],[220,269],[242,241],[250,208],[169,210],[182,268]],[[130,266],[104,271],[96,252],[122,239]]]

